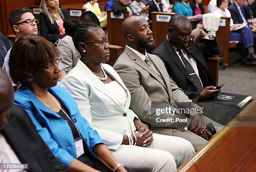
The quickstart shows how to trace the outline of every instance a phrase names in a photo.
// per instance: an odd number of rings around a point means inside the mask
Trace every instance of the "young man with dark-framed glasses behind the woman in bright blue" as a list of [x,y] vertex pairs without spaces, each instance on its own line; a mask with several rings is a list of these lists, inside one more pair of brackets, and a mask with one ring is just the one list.
[[[10,12],[9,15],[9,23],[10,27],[12,28],[14,34],[16,35],[16,40],[18,40],[20,37],[33,34],[33,35],[38,35],[38,29],[37,25],[39,23],[39,20],[34,17],[32,14],[32,11],[28,8],[19,8],[16,10],[13,10]],[[3,70],[4,72],[7,73],[9,76],[10,80],[10,72],[9,72],[9,56],[10,56],[10,50],[7,52],[3,64]],[[60,69],[62,69],[61,64],[59,65]],[[64,78],[67,74],[64,72],[64,70],[61,70],[60,73],[60,79]],[[12,82],[12,80],[11,80]],[[12,82],[12,85],[15,90],[18,90],[20,85],[15,85]]]

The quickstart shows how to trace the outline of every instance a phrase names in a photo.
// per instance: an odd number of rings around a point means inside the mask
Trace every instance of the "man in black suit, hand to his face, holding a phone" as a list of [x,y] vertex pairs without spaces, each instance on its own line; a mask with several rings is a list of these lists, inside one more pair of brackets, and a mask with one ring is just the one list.
[[[192,45],[198,36],[203,38],[203,43]],[[198,28],[192,31],[184,15],[172,17],[167,36],[153,52],[163,60],[169,76],[193,102],[211,99],[220,92],[213,90],[216,85],[205,61],[205,58],[219,53],[220,47],[215,38]]]

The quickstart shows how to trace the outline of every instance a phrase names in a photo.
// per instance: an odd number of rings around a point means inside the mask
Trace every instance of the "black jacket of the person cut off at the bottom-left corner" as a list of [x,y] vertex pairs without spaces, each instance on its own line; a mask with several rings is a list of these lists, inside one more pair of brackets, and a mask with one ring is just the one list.
[[8,123],[1,133],[21,163],[29,163],[29,172],[68,172],[51,153],[25,110],[13,105]]

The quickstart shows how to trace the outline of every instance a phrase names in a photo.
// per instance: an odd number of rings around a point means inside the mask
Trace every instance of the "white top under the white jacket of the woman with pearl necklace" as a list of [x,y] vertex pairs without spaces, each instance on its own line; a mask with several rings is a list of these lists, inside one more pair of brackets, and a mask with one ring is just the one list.
[[117,96],[118,99],[122,102],[123,106],[125,106],[128,95],[125,89],[118,82],[112,81],[110,83],[105,84],[105,87],[107,87],[111,91],[114,90],[115,96]]

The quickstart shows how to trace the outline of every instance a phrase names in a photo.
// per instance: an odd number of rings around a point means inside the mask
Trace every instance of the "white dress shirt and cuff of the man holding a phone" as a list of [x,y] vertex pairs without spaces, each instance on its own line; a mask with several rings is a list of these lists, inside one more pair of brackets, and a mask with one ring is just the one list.
[[[167,38],[167,40],[169,41],[167,35],[166,35],[166,38]],[[206,33],[206,36],[205,36],[205,37],[202,37],[202,39],[214,40],[214,37],[213,37],[213,35],[210,35],[210,34],[207,34],[207,33]],[[172,44],[171,44],[171,45],[172,45]],[[184,65],[184,63],[183,63],[183,61],[182,61],[182,58],[180,57],[179,52],[177,51],[177,48],[174,47],[173,45],[172,45],[172,47],[174,48],[175,52],[176,52],[177,55],[179,56],[180,61],[181,61],[182,64]],[[199,72],[198,72],[198,69],[197,69],[197,62],[195,61],[194,57],[188,58],[188,57],[187,57],[187,53],[186,53],[186,51],[184,51],[184,49],[182,49],[182,53],[183,53],[185,59],[186,59],[186,60],[189,62],[189,64],[193,67],[193,70],[195,71],[195,73],[196,73],[197,76],[199,77],[200,82],[201,82],[201,85],[202,85],[202,81],[201,81],[201,78],[200,78],[200,76],[199,76]],[[186,68],[185,65],[184,65],[184,67]],[[202,85],[202,88],[204,88],[203,85]]]

